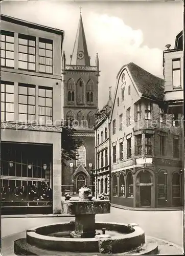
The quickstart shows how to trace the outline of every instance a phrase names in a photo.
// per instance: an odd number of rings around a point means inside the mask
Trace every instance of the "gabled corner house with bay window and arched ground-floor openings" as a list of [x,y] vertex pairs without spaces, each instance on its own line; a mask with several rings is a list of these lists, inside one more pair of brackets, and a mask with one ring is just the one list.
[[110,114],[112,203],[182,205],[181,115],[165,114],[164,80],[134,63],[117,76]]

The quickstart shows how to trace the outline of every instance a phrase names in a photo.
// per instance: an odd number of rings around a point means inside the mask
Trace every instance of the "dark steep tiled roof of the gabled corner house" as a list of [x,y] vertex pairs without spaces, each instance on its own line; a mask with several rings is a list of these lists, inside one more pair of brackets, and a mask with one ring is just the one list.
[[125,66],[128,67],[142,96],[154,100],[164,100],[164,79],[152,75],[133,62],[130,62]]

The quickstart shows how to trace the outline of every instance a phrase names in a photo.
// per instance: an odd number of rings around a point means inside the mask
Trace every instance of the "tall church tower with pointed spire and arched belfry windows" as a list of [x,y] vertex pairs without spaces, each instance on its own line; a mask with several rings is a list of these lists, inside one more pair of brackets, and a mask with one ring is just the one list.
[[63,191],[73,189],[78,193],[83,184],[90,187],[92,185],[90,173],[95,169],[95,131],[92,126],[95,124],[95,114],[98,110],[99,72],[98,54],[95,65],[90,65],[80,10],[73,53],[70,58],[65,56],[65,52],[62,56],[62,96],[63,120],[74,120],[75,137],[82,140],[82,145],[77,152],[78,160],[69,161],[63,167]]

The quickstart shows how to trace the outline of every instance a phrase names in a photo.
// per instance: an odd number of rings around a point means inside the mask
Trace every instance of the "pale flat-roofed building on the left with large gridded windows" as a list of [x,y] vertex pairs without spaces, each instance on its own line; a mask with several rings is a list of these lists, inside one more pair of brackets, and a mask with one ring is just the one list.
[[61,212],[64,32],[1,15],[1,186],[46,182]]

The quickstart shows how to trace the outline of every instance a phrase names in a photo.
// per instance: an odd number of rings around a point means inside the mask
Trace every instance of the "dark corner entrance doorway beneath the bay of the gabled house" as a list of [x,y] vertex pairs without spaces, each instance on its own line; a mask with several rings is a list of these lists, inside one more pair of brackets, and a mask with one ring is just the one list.
[[150,173],[145,171],[140,176],[140,205],[151,206],[151,179]]

